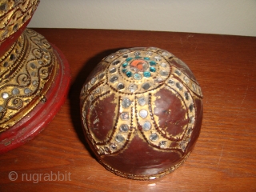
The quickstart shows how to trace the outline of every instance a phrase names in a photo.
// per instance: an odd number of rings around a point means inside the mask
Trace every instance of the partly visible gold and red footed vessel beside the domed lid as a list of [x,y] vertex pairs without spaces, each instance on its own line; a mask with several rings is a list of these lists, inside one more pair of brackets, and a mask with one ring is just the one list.
[[61,51],[26,29],[38,3],[0,2],[0,154],[34,138],[57,114],[70,85]]

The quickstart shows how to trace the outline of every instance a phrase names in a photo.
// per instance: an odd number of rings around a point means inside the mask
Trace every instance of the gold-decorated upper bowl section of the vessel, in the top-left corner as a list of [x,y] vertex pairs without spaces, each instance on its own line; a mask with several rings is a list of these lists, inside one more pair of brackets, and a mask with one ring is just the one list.
[[0,2],[0,45],[32,17],[39,2],[39,0]]

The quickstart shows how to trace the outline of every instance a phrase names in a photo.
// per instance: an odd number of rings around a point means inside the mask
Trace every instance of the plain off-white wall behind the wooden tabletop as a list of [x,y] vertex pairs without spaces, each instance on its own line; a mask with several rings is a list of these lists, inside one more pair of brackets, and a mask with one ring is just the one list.
[[256,1],[41,0],[29,27],[256,36]]

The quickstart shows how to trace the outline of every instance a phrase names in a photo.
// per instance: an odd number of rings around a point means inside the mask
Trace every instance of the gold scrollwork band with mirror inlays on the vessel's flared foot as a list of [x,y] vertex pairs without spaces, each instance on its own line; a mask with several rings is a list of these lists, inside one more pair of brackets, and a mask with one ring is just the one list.
[[25,30],[0,62],[1,132],[46,102],[58,62],[49,42],[34,30]]

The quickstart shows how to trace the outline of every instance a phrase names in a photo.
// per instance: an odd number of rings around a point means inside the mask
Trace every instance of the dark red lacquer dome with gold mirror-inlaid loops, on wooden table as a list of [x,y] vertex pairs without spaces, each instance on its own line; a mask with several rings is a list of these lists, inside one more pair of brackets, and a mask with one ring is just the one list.
[[119,50],[82,87],[82,125],[107,170],[161,178],[188,158],[202,124],[202,91],[174,54],[155,47]]

